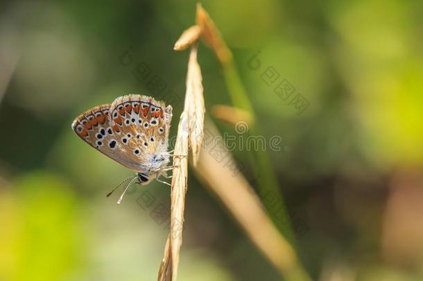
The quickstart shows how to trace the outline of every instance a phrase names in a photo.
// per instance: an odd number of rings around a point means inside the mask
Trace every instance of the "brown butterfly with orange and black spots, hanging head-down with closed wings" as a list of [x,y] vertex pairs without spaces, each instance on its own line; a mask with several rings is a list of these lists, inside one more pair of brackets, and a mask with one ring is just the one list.
[[123,181],[130,180],[119,198],[120,204],[135,180],[140,185],[148,185],[153,179],[169,185],[159,176],[170,178],[166,171],[173,168],[167,166],[171,156],[168,152],[171,120],[171,105],[150,96],[130,94],[80,114],[72,123],[72,130],[96,150],[137,173]]

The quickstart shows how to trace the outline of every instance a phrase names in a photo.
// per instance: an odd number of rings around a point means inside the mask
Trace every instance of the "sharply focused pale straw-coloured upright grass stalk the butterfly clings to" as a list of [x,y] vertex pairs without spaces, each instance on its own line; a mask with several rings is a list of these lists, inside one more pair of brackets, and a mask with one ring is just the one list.
[[189,146],[193,164],[198,161],[204,129],[205,105],[202,96],[202,76],[197,62],[197,45],[191,46],[187,71],[187,90],[184,111],[178,125],[178,136],[173,154],[173,177],[171,187],[171,233],[166,242],[158,280],[176,280],[182,229],[184,223],[185,194],[187,192]]

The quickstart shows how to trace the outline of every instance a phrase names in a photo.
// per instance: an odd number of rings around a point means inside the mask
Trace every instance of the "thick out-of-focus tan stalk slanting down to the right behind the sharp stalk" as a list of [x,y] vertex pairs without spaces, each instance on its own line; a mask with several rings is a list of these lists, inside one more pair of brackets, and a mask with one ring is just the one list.
[[[220,133],[211,121],[206,122],[206,126],[212,139],[220,139]],[[225,159],[225,165],[212,156],[212,150],[219,152],[219,157]],[[227,160],[231,161],[230,164],[227,164]],[[236,169],[236,163],[223,143],[206,142],[195,171],[223,201],[257,248],[282,274],[287,278],[289,276],[290,280],[293,275],[298,278],[293,280],[307,280],[300,277],[295,251],[270,221],[261,201],[244,176],[241,173],[234,175]]]

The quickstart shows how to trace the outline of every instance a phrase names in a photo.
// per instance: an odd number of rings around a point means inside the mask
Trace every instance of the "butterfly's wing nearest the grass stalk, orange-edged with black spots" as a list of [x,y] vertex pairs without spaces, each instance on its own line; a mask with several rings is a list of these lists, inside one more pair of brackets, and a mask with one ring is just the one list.
[[128,151],[127,157],[142,164],[144,171],[152,169],[154,157],[167,153],[171,105],[166,107],[150,96],[130,94],[113,101],[110,117],[114,136]]

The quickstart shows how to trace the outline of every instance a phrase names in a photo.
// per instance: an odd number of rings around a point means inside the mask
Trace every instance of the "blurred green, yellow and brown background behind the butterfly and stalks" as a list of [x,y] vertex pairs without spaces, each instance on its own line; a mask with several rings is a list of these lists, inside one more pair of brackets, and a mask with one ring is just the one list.
[[[268,151],[269,169],[303,226],[297,250],[312,279],[422,280],[423,2],[202,4],[265,137],[288,147]],[[155,280],[169,233],[155,212],[169,210],[169,189],[153,182],[116,205],[105,194],[132,173],[70,124],[117,96],[159,96],[139,65],[183,99],[188,52],[173,44],[195,22],[196,2],[0,7],[0,280]],[[229,104],[212,51],[201,44],[198,58],[207,110]],[[307,99],[304,112],[266,84],[267,67]],[[168,97],[174,135],[182,102]],[[192,173],[185,212],[180,280],[281,279]]]

